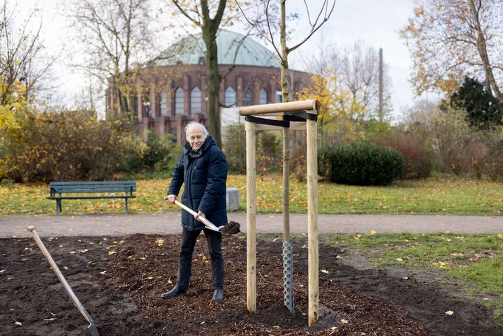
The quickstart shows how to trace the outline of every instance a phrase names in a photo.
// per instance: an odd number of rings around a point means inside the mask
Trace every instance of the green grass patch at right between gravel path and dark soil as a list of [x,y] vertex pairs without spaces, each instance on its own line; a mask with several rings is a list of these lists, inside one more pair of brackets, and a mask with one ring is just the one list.
[[327,235],[326,244],[358,249],[376,267],[430,268],[462,280],[462,289],[493,309],[503,326],[503,235]]

